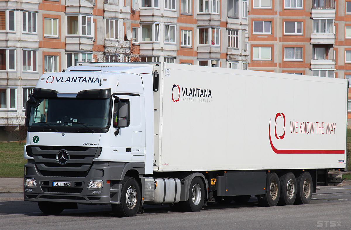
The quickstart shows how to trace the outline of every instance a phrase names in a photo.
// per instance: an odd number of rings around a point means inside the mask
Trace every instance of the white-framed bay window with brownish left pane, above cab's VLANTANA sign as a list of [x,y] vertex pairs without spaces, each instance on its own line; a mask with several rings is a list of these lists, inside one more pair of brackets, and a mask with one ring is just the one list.
[[[68,35],[92,35],[92,21],[90,16],[68,16],[67,34]],[[79,31],[80,28],[80,31]]]

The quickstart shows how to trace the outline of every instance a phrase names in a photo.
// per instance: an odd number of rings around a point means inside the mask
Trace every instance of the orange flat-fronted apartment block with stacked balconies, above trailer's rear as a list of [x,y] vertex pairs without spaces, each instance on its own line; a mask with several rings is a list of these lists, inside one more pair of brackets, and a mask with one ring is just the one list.
[[248,31],[250,70],[351,78],[350,0],[253,0]]

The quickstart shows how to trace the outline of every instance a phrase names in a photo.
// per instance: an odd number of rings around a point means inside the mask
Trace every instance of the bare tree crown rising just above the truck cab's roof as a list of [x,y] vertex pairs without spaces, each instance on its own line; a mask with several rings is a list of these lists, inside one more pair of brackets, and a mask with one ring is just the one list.
[[96,53],[97,61],[140,61],[139,48],[135,41],[107,40],[104,39],[103,48],[98,48]]

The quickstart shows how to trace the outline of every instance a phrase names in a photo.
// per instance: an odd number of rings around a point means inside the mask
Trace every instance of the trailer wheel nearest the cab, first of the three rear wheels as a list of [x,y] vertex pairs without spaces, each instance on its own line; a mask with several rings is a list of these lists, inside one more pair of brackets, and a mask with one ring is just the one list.
[[270,174],[268,185],[266,194],[261,195],[258,200],[261,206],[276,206],[280,197],[280,182],[277,173]]

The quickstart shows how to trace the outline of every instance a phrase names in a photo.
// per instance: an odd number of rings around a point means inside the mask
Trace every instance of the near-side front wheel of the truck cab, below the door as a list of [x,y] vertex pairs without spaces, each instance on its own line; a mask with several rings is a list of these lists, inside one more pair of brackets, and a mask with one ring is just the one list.
[[118,217],[129,217],[137,214],[140,206],[140,186],[133,177],[122,181],[121,203],[111,204],[113,213]]

